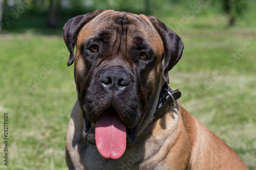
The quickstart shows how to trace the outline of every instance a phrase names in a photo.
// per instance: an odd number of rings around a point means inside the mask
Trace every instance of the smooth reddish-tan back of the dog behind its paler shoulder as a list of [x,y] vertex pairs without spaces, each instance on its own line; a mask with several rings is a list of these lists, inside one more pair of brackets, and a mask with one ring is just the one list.
[[191,169],[247,169],[241,158],[193,115],[181,108],[192,150]]

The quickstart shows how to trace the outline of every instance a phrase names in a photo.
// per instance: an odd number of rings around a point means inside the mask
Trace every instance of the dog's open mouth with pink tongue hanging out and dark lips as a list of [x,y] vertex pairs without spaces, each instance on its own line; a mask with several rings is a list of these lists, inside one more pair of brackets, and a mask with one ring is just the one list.
[[82,136],[91,144],[95,144],[104,158],[118,159],[126,148],[136,142],[138,125],[126,128],[113,106],[105,109],[96,120],[89,122],[83,114]]

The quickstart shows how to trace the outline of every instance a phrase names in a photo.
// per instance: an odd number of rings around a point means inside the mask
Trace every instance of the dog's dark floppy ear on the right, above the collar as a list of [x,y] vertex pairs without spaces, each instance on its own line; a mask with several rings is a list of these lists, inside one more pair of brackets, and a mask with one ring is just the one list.
[[183,42],[181,38],[172,30],[170,30],[163,22],[161,22],[156,17],[150,17],[153,25],[159,32],[163,44],[164,44],[164,68],[162,77],[169,83],[168,71],[172,69],[175,64],[180,60],[182,56],[182,51],[184,49]]

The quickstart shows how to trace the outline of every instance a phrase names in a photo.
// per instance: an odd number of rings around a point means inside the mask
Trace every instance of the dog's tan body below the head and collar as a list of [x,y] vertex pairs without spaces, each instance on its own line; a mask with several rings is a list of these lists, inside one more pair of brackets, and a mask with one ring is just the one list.
[[[74,169],[248,169],[239,156],[178,103],[148,126],[117,160],[104,160],[94,145],[82,153],[82,112],[76,102],[66,138]],[[83,159],[83,155],[91,155]]]

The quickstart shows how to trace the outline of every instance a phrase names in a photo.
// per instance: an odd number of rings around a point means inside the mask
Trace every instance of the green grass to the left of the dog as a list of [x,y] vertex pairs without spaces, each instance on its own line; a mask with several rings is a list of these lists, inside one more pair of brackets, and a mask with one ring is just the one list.
[[[1,112],[9,114],[8,167],[65,168],[65,134],[76,99],[73,68],[66,67],[65,43],[61,36],[21,35],[1,40],[0,44],[4,54]],[[65,59],[59,54],[63,49]],[[58,66],[46,72],[44,67],[49,68],[53,61]],[[45,80],[30,91],[28,83],[34,84],[36,77]]]

